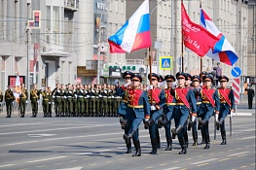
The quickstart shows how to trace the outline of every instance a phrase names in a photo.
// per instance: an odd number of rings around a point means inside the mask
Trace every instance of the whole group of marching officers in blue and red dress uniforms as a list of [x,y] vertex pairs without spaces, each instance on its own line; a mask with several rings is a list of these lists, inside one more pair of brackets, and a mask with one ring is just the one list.
[[[204,149],[210,148],[209,119],[214,117],[214,127],[220,130],[221,145],[226,145],[225,118],[235,109],[233,90],[228,87],[229,78],[221,76],[220,86],[212,87],[213,78],[205,72],[201,75],[178,72],[175,76],[148,75],[151,85],[141,88],[139,74],[126,72],[126,85],[120,86],[117,93],[123,97],[119,107],[120,123],[125,129],[123,136],[127,153],[131,153],[131,139],[136,153],[141,155],[138,127],[143,121],[149,129],[152,152],[156,154],[161,146],[159,128],[165,127],[166,149],[172,150],[172,140],[178,137],[181,146],[179,154],[186,154],[189,141],[188,131],[192,131],[193,146],[198,145],[198,130],[201,130]],[[170,128],[174,119],[174,128]]]

